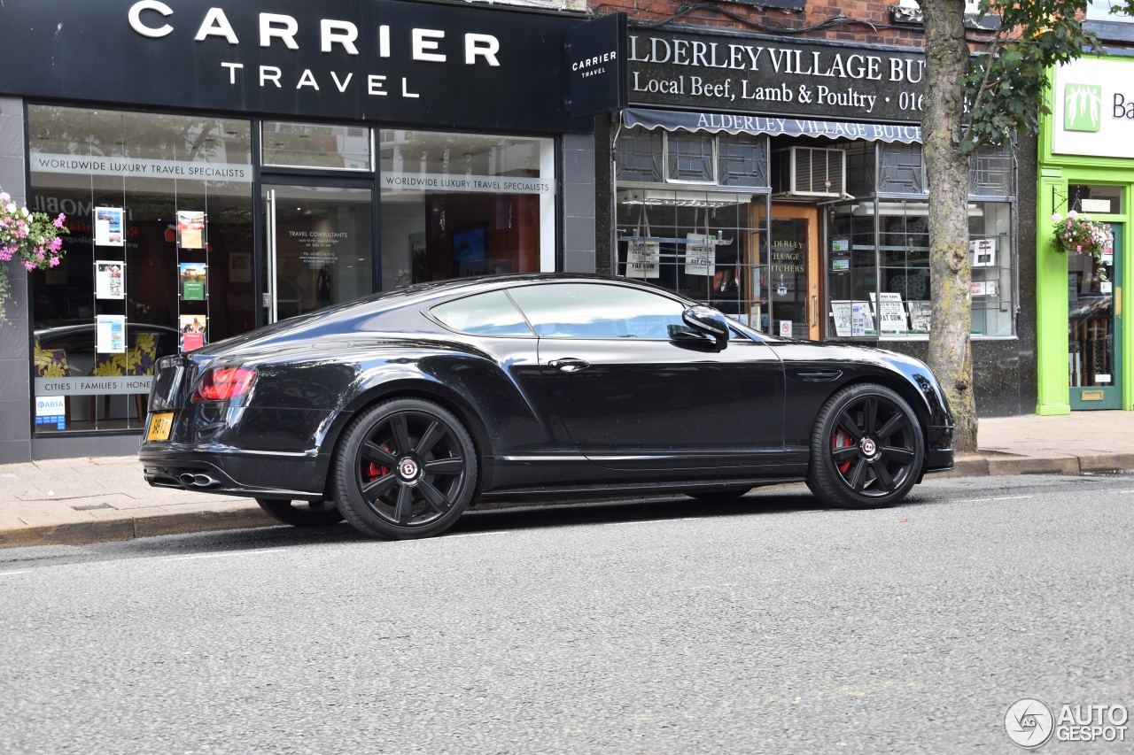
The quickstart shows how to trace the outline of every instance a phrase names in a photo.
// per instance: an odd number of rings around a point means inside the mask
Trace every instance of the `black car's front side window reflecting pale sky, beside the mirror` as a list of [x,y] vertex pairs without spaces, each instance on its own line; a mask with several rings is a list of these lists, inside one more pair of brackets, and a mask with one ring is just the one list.
[[511,289],[536,336],[669,338],[685,307],[666,296],[602,283],[547,283]]

